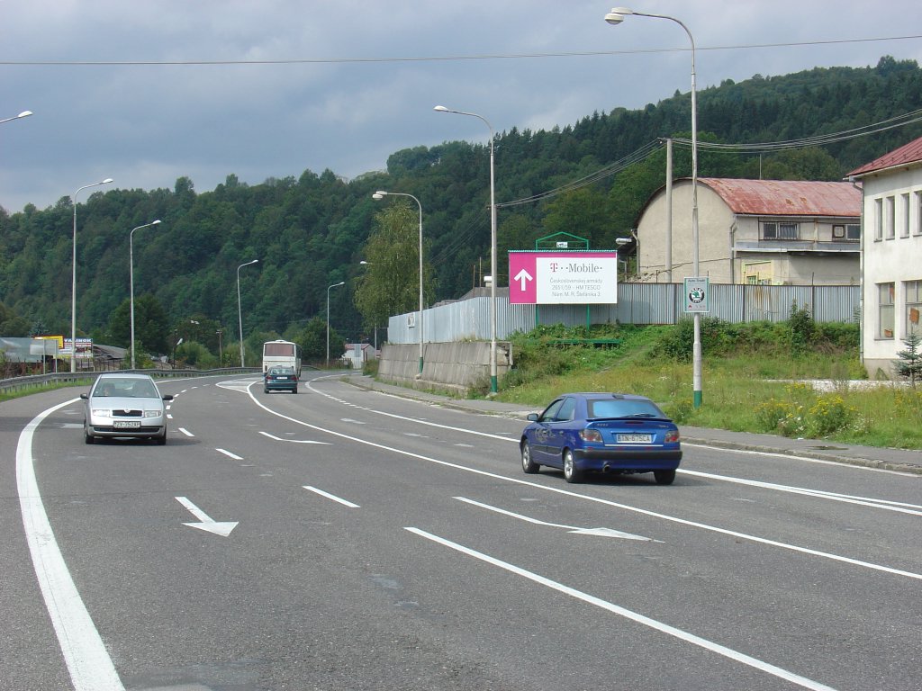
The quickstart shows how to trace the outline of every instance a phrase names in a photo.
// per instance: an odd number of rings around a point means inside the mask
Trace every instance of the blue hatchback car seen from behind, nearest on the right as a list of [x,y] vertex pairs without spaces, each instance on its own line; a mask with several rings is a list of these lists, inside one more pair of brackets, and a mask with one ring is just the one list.
[[676,478],[679,427],[644,396],[564,393],[528,420],[519,443],[526,473],[548,465],[571,483],[587,471],[653,473],[659,485]]

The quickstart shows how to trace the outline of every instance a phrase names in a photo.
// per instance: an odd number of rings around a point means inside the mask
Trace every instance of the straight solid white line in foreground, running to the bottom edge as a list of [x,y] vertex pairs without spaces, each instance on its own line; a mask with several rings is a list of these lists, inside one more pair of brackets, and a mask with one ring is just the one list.
[[832,686],[827,686],[825,684],[821,684],[820,682],[813,681],[812,679],[808,679],[805,676],[800,676],[799,674],[788,672],[781,667],[776,667],[774,664],[769,664],[768,662],[764,662],[758,658],[751,657],[746,653],[739,652],[739,650],[727,648],[726,646],[722,646],[719,643],[708,640],[707,638],[695,636],[694,634],[689,633],[688,631],[684,631],[680,628],[670,627],[668,624],[657,621],[656,619],[651,619],[649,616],[638,614],[637,612],[633,612],[632,610],[621,607],[615,603],[609,603],[607,600],[602,600],[601,598],[597,598],[594,595],[590,595],[586,592],[577,591],[576,589],[563,585],[556,580],[550,580],[544,576],[539,576],[533,571],[528,571],[525,568],[516,567],[514,564],[510,564],[507,561],[502,561],[501,559],[497,559],[494,556],[489,556],[464,545],[459,545],[450,540],[446,540],[443,537],[439,537],[438,535],[427,533],[426,531],[420,530],[420,528],[407,527],[404,528],[404,530],[419,535],[420,537],[423,537],[427,540],[431,540],[431,542],[438,545],[443,545],[449,549],[454,549],[455,552],[460,552],[461,554],[467,556],[473,556],[475,559],[479,559],[480,561],[486,562],[487,564],[491,564],[494,567],[505,569],[506,571],[509,571],[516,576],[521,576],[524,579],[532,580],[552,590],[562,592],[563,594],[569,595],[570,597],[576,598],[577,600],[581,600],[584,603],[592,604],[614,615],[619,615],[625,619],[630,619],[632,622],[640,624],[644,627],[652,628],[656,631],[659,631],[660,633],[666,634],[667,636],[671,636],[672,638],[679,638],[686,643],[691,643],[692,645],[703,648],[704,650],[710,650],[711,652],[722,655],[734,662],[740,662],[741,664],[749,665],[750,667],[754,667],[755,669],[764,673],[771,674],[772,676],[776,676],[779,679],[784,679],[791,684],[801,686],[802,688],[808,688],[811,691],[834,691]]

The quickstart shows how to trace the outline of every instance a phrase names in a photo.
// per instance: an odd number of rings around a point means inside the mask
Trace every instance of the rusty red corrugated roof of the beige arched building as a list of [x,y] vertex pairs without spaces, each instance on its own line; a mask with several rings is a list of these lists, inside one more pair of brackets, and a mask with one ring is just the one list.
[[859,217],[861,192],[851,182],[699,178],[734,214]]

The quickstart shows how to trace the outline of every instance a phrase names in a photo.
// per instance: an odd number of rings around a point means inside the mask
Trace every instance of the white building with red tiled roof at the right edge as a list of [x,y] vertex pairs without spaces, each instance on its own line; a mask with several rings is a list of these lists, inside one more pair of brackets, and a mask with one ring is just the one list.
[[922,137],[849,173],[864,191],[861,358],[892,378],[908,334],[922,334]]

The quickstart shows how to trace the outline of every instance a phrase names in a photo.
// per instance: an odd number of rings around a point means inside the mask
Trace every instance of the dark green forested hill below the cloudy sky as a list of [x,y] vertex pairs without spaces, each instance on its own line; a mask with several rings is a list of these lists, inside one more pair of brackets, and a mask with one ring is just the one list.
[[[617,104],[612,104],[613,106]],[[698,94],[699,173],[709,177],[839,180],[848,170],[922,135],[908,113],[922,110],[922,70],[915,61],[881,58],[875,67],[813,69],[786,76],[727,81]],[[901,118],[891,129],[869,128]],[[639,209],[664,182],[662,137],[677,138],[675,174],[691,172],[689,93],[642,110],[614,108],[551,131],[513,129],[497,135],[500,285],[505,252],[533,249],[558,231],[610,249],[632,228]],[[862,128],[869,128],[869,134]],[[763,147],[759,153],[709,143],[791,142],[856,131],[814,147]],[[127,345],[122,322],[128,299],[128,242],[135,234],[135,296],[162,307],[168,323],[207,324],[213,342],[237,333],[238,266],[244,332],[292,336],[313,317],[349,339],[369,334],[383,314],[366,314],[353,295],[375,215],[407,198],[372,200],[375,190],[410,193],[424,210],[425,259],[434,271],[428,303],[455,299],[489,273],[489,146],[447,142],[394,153],[387,170],[345,181],[335,172],[305,170],[300,178],[224,184],[198,193],[187,178],[173,189],[113,190],[78,206],[77,326],[113,345]],[[561,188],[563,191],[561,191]],[[550,191],[558,191],[545,195]],[[523,201],[538,196],[534,201]],[[416,212],[416,205],[412,211]],[[68,197],[40,210],[0,209],[0,335],[70,333],[73,208]],[[415,229],[415,226],[414,226]],[[413,257],[410,261],[415,261]],[[416,274],[413,274],[416,280]],[[343,287],[332,287],[345,281]],[[332,288],[331,288],[332,287]],[[413,310],[413,291],[408,291]],[[155,309],[156,311],[156,309]],[[167,335],[145,345],[164,349]],[[214,349],[215,345],[209,343]]]

